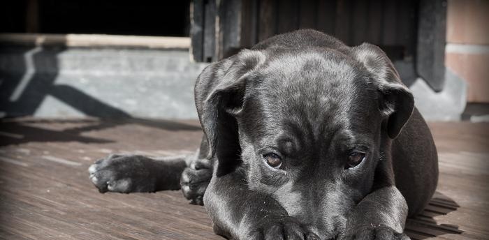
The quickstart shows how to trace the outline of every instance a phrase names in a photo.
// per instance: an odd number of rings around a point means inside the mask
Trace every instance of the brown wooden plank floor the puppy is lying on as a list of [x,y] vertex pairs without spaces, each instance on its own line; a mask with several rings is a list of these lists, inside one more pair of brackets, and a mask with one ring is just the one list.
[[[489,239],[489,123],[431,123],[437,194],[413,239]],[[100,194],[87,167],[109,153],[194,151],[196,121],[0,120],[0,239],[221,239],[180,191]]]

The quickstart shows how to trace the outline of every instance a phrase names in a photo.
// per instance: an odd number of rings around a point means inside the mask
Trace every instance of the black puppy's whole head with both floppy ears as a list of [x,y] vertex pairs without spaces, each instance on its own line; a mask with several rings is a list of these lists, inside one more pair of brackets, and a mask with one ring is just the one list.
[[244,50],[203,71],[196,105],[218,175],[240,166],[249,188],[321,225],[374,188],[414,100],[384,52],[363,44]]

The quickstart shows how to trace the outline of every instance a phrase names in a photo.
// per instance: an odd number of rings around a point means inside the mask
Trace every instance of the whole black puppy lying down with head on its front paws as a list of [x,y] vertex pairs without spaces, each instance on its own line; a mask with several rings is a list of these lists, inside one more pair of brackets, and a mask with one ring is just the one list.
[[194,158],[110,156],[89,169],[98,189],[181,186],[232,239],[408,239],[437,186],[430,130],[374,45],[275,36],[205,68],[195,100]]

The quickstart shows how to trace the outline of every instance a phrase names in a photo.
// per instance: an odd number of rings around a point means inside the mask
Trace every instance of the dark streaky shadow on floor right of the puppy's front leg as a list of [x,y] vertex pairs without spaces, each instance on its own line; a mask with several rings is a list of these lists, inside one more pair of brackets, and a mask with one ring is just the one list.
[[457,225],[439,224],[436,216],[456,211],[460,206],[450,197],[439,193],[433,196],[425,210],[414,218],[408,218],[404,232],[414,240],[428,239],[445,234],[462,234]]

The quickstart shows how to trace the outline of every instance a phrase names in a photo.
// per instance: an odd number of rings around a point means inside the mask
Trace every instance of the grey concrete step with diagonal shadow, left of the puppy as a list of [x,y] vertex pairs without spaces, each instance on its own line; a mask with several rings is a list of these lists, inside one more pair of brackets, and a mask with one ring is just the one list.
[[36,117],[196,119],[206,63],[186,50],[8,47],[0,50],[0,111]]

